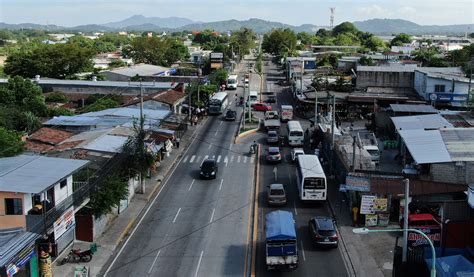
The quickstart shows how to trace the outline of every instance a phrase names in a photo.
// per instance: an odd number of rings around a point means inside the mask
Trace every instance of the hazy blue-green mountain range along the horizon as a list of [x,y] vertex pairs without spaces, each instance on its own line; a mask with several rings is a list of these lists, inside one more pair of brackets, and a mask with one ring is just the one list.
[[[411,21],[402,19],[370,19],[365,21],[353,22],[361,31],[370,32],[377,35],[391,35],[398,33],[409,33],[411,35],[420,34],[464,34],[474,32],[474,24],[463,25],[419,25]],[[312,24],[303,24],[294,26],[274,21],[266,21],[258,18],[248,20],[224,20],[216,22],[197,22],[182,17],[145,17],[134,15],[121,21],[105,24],[89,24],[75,27],[62,27],[57,25],[40,25],[34,23],[7,24],[0,23],[0,29],[43,29],[50,31],[193,31],[212,29],[218,32],[226,32],[240,29],[242,27],[250,28],[257,33],[268,32],[274,28],[290,28],[295,32],[316,32],[320,28],[328,26],[316,26]]]

